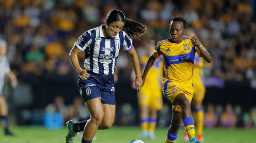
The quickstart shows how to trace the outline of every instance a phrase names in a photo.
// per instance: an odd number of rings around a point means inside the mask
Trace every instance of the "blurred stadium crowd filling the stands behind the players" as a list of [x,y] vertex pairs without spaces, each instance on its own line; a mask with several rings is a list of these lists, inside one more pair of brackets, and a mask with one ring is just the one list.
[[[212,55],[206,78],[250,80],[256,88],[255,6],[254,0],[0,0],[0,38],[18,80],[33,86],[52,73],[76,80],[68,53],[80,34],[103,23],[102,13],[119,9],[147,26],[146,35],[134,40],[139,56],[151,39],[168,39],[171,17],[182,15]],[[119,77],[130,76],[130,64],[120,51]]]

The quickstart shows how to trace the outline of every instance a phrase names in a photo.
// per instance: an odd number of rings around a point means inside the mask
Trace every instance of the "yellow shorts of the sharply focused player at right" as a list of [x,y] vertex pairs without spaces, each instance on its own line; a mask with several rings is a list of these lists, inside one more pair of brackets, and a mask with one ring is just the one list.
[[166,99],[171,101],[172,110],[181,112],[181,106],[175,105],[173,103],[174,99],[178,94],[184,93],[188,101],[191,103],[191,100],[193,98],[193,93],[194,93],[192,80],[178,82],[178,81],[171,81],[164,78],[162,81],[162,93]]

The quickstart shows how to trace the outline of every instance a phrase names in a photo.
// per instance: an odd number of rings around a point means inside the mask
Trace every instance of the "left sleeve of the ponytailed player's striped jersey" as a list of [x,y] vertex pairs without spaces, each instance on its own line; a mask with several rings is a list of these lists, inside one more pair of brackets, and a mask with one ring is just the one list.
[[91,45],[91,33],[86,31],[75,41],[75,46],[78,47],[81,51],[84,51],[88,46]]

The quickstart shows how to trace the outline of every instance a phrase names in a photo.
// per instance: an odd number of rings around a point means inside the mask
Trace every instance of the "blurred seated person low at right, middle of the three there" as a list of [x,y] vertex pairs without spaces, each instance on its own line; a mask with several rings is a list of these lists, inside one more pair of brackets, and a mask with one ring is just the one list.
[[220,126],[222,127],[235,127],[236,125],[236,116],[233,112],[231,104],[226,105],[225,111],[220,116]]

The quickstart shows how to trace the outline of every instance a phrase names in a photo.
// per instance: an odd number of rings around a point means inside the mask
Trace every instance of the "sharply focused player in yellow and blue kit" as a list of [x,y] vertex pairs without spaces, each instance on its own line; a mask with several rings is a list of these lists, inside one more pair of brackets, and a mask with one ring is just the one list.
[[194,89],[192,71],[194,54],[198,53],[206,62],[211,62],[210,54],[195,37],[188,37],[186,20],[181,16],[174,16],[170,23],[171,38],[159,41],[144,69],[142,80],[145,82],[149,69],[160,55],[164,57],[165,78],[162,81],[162,93],[172,103],[172,121],[165,143],[174,143],[178,129],[183,124],[186,128],[190,143],[200,143],[195,138],[194,120],[191,115],[190,102]]

